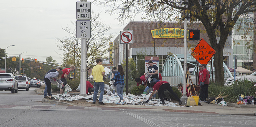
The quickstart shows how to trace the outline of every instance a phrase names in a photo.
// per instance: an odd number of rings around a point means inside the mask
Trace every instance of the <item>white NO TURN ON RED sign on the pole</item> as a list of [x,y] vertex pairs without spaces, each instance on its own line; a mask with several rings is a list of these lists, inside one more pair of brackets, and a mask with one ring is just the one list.
[[76,21],[76,38],[91,38],[91,21]]

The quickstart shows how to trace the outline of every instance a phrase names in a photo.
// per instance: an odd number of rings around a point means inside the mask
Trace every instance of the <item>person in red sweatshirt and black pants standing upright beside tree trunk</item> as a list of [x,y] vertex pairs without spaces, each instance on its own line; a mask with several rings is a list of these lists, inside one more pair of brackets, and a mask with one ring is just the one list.
[[206,69],[206,64],[202,64],[202,84],[201,84],[201,93],[200,93],[200,101],[206,101],[206,98],[208,98],[208,87],[209,87],[209,79],[210,74],[209,71]]

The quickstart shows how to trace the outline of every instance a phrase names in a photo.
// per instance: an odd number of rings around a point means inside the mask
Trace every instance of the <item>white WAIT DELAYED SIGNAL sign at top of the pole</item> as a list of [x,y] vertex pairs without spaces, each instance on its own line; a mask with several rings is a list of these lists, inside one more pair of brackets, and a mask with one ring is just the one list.
[[91,2],[76,2],[76,19],[91,19]]

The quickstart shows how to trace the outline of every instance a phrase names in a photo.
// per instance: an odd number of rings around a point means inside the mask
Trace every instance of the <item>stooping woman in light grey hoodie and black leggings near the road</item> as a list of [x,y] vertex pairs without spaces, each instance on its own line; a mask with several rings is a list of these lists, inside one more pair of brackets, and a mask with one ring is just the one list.
[[48,92],[49,99],[54,99],[54,97],[51,96],[52,82],[54,81],[54,79],[58,83],[62,84],[62,87],[64,87],[62,81],[60,80],[60,77],[62,74],[63,74],[63,71],[59,70],[56,72],[50,72],[44,76],[44,81],[47,86],[47,92]]

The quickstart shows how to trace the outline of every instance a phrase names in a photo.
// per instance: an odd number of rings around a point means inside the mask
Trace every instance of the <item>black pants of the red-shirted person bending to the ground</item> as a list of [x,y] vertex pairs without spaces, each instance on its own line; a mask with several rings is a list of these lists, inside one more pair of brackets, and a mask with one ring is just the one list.
[[164,92],[165,89],[167,89],[178,101],[180,101],[180,98],[178,97],[178,95],[173,92],[172,87],[170,86],[170,83],[164,83],[160,86],[160,88],[157,92],[157,94],[160,97],[162,102],[164,102],[164,97],[163,97],[162,93]]

